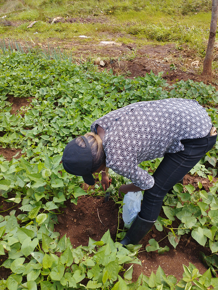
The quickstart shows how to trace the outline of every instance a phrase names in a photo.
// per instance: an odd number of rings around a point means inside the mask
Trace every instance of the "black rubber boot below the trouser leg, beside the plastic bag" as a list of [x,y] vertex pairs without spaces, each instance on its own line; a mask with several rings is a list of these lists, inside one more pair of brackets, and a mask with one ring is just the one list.
[[135,220],[131,224],[130,229],[126,233],[126,236],[120,242],[122,245],[138,245],[144,236],[150,231],[154,222],[149,220],[143,220],[137,214]]

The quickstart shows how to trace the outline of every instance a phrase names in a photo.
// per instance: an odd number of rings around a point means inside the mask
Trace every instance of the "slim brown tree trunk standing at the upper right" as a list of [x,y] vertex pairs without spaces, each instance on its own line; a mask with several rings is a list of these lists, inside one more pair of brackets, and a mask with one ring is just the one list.
[[217,18],[218,18],[218,0],[212,0],[212,15],[210,22],[210,35],[208,40],[208,47],[203,62],[203,72],[202,75],[211,75],[212,74],[212,59],[213,59],[213,50],[214,43],[217,31]]

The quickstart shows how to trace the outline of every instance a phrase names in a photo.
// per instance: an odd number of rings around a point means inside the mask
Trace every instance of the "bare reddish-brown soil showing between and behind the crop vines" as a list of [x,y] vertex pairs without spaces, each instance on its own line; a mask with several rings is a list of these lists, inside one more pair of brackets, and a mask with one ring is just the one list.
[[[72,19],[71,21],[76,21]],[[104,21],[104,20],[102,20]],[[102,37],[104,33],[102,33]],[[110,40],[116,39],[120,34],[110,35],[107,34],[107,38]],[[23,49],[26,49],[26,43],[20,41]],[[54,40],[49,39],[49,46],[52,47]],[[36,42],[31,43],[32,46],[40,47],[42,49],[48,49],[48,42]],[[56,42],[57,45],[57,42]],[[216,75],[212,77],[204,77],[199,74],[199,66],[202,64],[201,59],[196,58],[194,51],[190,51],[183,47],[182,50],[176,49],[175,45],[146,45],[143,47],[136,47],[135,44],[124,45],[112,41],[110,44],[103,43],[92,43],[87,42],[81,44],[76,40],[72,40],[68,43],[66,41],[58,41],[59,47],[62,49],[71,49],[76,47],[75,58],[88,57],[90,54],[99,55],[101,60],[103,60],[106,65],[104,67],[99,66],[99,70],[110,70],[112,68],[114,73],[122,73],[126,77],[137,77],[145,76],[145,74],[151,70],[158,74],[158,72],[163,71],[163,78],[169,83],[173,83],[176,80],[187,80],[192,79],[194,81],[203,81],[206,84],[213,84],[216,86]],[[54,46],[54,45],[53,45]],[[130,52],[137,52],[136,57],[132,60],[127,60],[126,55]],[[123,58],[122,58],[123,57]],[[195,65],[193,61],[196,61]],[[175,64],[173,70],[171,70],[171,63]],[[31,100],[26,100],[24,98],[14,98],[13,96],[8,96],[8,101],[12,103],[12,114],[17,114],[21,112],[21,107],[29,105]],[[22,109],[24,114],[24,109]],[[4,134],[4,132],[0,132]],[[0,154],[5,156],[7,160],[11,160],[13,156],[18,155],[15,158],[21,157],[21,152],[19,149],[15,148],[2,148],[0,146]],[[187,174],[184,178],[184,185],[190,183],[197,188],[198,181],[203,184],[203,189],[209,190],[211,186],[208,180],[201,178],[199,176],[191,176]],[[8,204],[1,200],[1,205],[3,204],[3,209],[6,209],[5,214],[9,214],[11,209],[8,209]],[[55,225],[55,231],[58,231],[61,236],[67,234],[70,238],[73,247],[78,245],[88,245],[89,237],[96,241],[100,241],[103,234],[109,229],[112,239],[116,240],[117,227],[118,227],[118,216],[119,216],[119,206],[115,204],[113,199],[110,197],[107,203],[104,203],[104,198],[98,198],[94,196],[82,196],[78,199],[77,205],[70,202],[70,200],[65,203],[66,208],[63,212],[58,215],[58,224]],[[11,206],[11,204],[10,204]],[[164,216],[161,212],[160,215]],[[119,219],[119,229],[123,229],[123,221]],[[141,272],[143,274],[150,276],[153,271],[156,273],[158,266],[160,265],[167,275],[174,275],[177,280],[182,279],[183,264],[188,266],[192,263],[199,269],[199,272],[203,274],[207,268],[199,260],[199,251],[209,254],[208,248],[200,246],[191,235],[184,235],[181,237],[180,242],[176,249],[169,243],[168,239],[165,238],[164,231],[159,232],[155,227],[152,228],[142,240],[142,248],[139,250],[138,258],[142,261],[142,266],[133,265],[133,280],[137,280]],[[164,247],[167,245],[170,250],[164,254],[158,254],[157,252],[145,251],[146,245],[150,238],[155,238],[156,241],[160,241],[160,246]],[[1,262],[3,262],[1,257]],[[130,265],[127,265],[128,268]],[[7,276],[9,273],[8,269],[2,269],[1,276]]]

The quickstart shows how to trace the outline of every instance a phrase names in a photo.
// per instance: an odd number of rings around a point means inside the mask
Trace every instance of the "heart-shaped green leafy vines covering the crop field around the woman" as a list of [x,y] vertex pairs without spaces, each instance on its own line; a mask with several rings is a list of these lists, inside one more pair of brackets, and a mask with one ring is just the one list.
[[[21,148],[22,157],[11,161],[0,157],[0,194],[8,202],[21,203],[19,208],[23,213],[16,217],[12,210],[10,215],[0,216],[0,254],[8,251],[3,266],[12,271],[7,280],[1,280],[0,289],[217,287],[218,278],[212,278],[210,270],[200,275],[191,264],[184,266],[183,280],[178,283],[174,276],[166,277],[161,268],[156,275],[141,275],[136,283],[131,283],[131,266],[123,278],[119,272],[123,271],[124,263],[140,264],[135,257],[138,246],[125,249],[106,233],[101,241],[90,239],[88,247],[74,249],[66,235],[59,239],[59,234],[53,232],[57,222],[53,210],[64,207],[66,199],[71,198],[76,204],[79,196],[87,194],[80,186],[82,179],[63,170],[62,151],[75,135],[87,132],[95,119],[137,101],[191,98],[206,107],[218,127],[218,96],[214,87],[192,80],[169,85],[161,76],[162,73],[156,76],[151,71],[145,77],[126,79],[113,75],[112,70],[99,72],[91,63],[76,65],[58,54],[46,57],[35,52],[2,50],[0,144],[4,148]],[[29,98],[31,103],[22,112],[11,114],[8,96]],[[208,175],[211,180],[217,174],[217,149],[216,144],[192,174],[198,172],[206,178]],[[149,161],[142,166],[155,169],[158,162]],[[208,162],[211,168],[205,167]],[[121,177],[114,176],[115,183],[119,182]],[[177,185],[173,194],[167,195],[164,211],[168,220],[159,218],[156,227],[160,231],[170,228],[168,238],[174,247],[182,234],[192,231],[199,244],[210,247],[212,253],[218,251],[217,188],[218,184],[214,183],[210,192],[196,191],[190,185],[184,192]],[[113,184],[111,191],[117,198],[115,189]],[[9,192],[12,198],[8,198]],[[181,220],[177,229],[171,226],[175,216]],[[147,251],[158,250],[155,241],[150,241],[150,245]],[[56,252],[60,252],[60,257]]]

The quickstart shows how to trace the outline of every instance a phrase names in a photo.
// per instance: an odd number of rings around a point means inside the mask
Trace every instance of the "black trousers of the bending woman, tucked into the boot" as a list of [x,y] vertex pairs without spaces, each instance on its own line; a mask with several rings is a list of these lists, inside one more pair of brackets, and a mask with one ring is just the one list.
[[[209,135],[209,134],[208,134]],[[196,165],[216,143],[217,135],[181,140],[184,150],[166,153],[153,174],[154,186],[144,191],[140,218],[155,221],[167,192]]]

